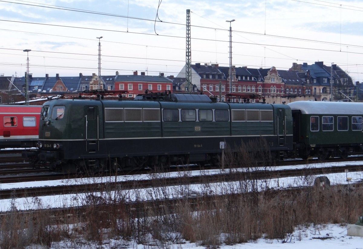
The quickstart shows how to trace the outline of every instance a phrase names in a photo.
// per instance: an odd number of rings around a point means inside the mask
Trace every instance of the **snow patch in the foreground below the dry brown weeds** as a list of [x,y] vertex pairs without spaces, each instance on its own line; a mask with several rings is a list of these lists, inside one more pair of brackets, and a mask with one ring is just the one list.
[[[122,246],[121,246],[122,245]],[[161,245],[158,241],[150,241],[149,244],[136,244],[134,241],[121,240],[105,240],[100,246],[94,242],[82,241],[75,243],[74,241],[53,242],[51,249],[89,249],[89,248],[125,248],[125,249],[204,249],[204,246],[198,243],[189,243],[183,241],[182,244],[166,244]],[[310,225],[310,227],[297,227],[295,232],[289,237],[285,243],[281,240],[270,240],[259,238],[257,241],[247,242],[236,245],[220,245],[220,249],[248,249],[248,248],[264,248],[264,249],[363,249],[362,237],[347,236],[347,228],[339,224],[326,225]],[[30,249],[30,248],[29,248]]]

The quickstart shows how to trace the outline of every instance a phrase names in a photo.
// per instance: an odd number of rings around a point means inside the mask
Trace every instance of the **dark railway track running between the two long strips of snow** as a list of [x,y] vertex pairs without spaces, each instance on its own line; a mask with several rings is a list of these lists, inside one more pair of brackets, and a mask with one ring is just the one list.
[[[250,172],[233,172],[225,174],[214,175],[198,175],[198,176],[184,176],[177,178],[157,178],[146,180],[126,180],[116,182],[104,183],[84,183],[76,185],[63,184],[61,186],[44,186],[44,187],[30,187],[30,188],[14,188],[0,190],[1,199],[9,199],[13,197],[32,197],[32,196],[46,196],[46,195],[64,195],[85,192],[99,192],[99,191],[112,191],[112,190],[130,190],[134,188],[150,188],[150,187],[165,187],[175,186],[182,184],[202,184],[202,183],[216,183],[216,182],[231,182],[250,179],[274,179],[283,177],[299,177],[309,175],[319,175],[328,173],[343,173],[346,170],[350,172],[362,171],[363,165],[350,165],[350,166],[337,166],[337,167],[322,167],[311,169],[290,169],[290,170],[273,170],[273,171],[250,171]],[[63,178],[62,178],[63,177]],[[110,179],[114,179],[109,175]],[[121,177],[121,176],[119,176]],[[28,180],[29,176],[25,177]],[[45,178],[51,179],[64,179],[63,174],[46,175]],[[4,177],[0,177],[0,183],[3,182]],[[37,176],[33,176],[33,180],[37,180]],[[10,179],[8,179],[10,180]],[[18,179],[19,180],[19,176]],[[13,179],[14,181],[14,179]],[[23,181],[23,180],[19,180]]]

